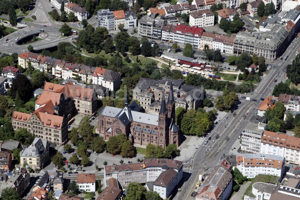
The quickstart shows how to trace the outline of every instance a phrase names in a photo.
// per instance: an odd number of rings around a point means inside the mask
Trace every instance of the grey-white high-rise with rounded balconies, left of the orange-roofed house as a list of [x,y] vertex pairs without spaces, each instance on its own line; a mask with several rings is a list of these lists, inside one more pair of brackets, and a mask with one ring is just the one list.
[[98,10],[98,28],[105,27],[108,31],[115,30],[115,17],[109,9]]

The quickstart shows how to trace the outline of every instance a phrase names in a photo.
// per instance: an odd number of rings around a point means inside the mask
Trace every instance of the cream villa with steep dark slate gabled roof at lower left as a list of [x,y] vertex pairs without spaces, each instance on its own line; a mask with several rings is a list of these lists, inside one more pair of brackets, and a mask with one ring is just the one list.
[[32,169],[43,169],[49,162],[49,142],[35,138],[32,144],[20,152],[20,165],[29,165]]

